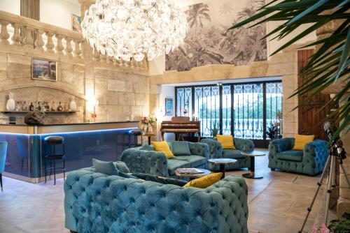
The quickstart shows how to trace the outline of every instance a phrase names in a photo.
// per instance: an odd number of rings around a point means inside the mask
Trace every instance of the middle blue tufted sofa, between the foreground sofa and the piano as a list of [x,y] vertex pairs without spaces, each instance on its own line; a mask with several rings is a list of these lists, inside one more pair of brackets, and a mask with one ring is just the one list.
[[[172,142],[167,142],[172,149]],[[144,151],[141,147],[126,149],[120,158],[126,163],[131,172],[146,173],[156,176],[167,176],[178,179],[175,174],[176,169],[182,167],[207,167],[209,158],[209,146],[204,143],[188,142],[191,156],[175,156],[167,159],[164,153],[158,151]]]

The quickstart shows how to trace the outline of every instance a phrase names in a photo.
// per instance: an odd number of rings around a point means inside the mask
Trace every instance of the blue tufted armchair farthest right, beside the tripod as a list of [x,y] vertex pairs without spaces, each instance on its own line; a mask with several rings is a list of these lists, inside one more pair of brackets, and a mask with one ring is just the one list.
[[314,140],[303,151],[294,151],[295,139],[286,137],[269,142],[269,167],[286,172],[315,175],[322,172],[328,158],[327,142]]

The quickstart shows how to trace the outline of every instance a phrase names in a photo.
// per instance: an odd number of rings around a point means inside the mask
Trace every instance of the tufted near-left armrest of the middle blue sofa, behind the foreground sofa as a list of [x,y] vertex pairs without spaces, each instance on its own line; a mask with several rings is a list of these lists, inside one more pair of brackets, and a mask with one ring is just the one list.
[[120,160],[129,167],[130,172],[168,176],[168,161],[164,153],[132,148],[123,151]]

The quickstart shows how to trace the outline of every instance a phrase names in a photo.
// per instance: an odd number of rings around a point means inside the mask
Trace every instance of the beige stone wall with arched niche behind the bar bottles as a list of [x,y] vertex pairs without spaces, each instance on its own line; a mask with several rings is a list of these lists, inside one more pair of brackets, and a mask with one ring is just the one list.
[[[84,79],[83,65],[57,62],[57,82],[31,79],[32,57],[22,54],[0,52],[0,110],[6,110],[8,92],[15,94],[15,101],[26,101],[27,107],[35,101],[48,101],[56,107],[59,102],[69,110],[69,98],[76,96],[76,113],[47,114],[45,123],[75,123],[84,120]],[[1,119],[17,117],[24,123],[25,114],[0,114]]]

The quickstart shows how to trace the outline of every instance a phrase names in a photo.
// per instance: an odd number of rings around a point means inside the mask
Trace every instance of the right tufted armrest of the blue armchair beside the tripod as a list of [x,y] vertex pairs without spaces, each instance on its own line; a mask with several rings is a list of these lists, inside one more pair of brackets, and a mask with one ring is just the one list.
[[324,140],[314,140],[304,146],[302,163],[304,170],[312,170],[314,174],[321,172],[328,158],[328,146]]

